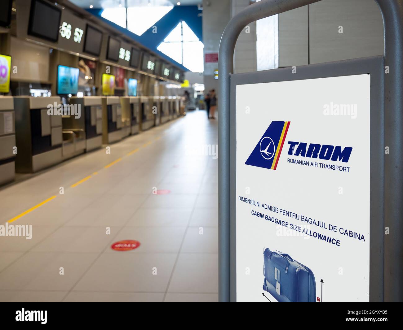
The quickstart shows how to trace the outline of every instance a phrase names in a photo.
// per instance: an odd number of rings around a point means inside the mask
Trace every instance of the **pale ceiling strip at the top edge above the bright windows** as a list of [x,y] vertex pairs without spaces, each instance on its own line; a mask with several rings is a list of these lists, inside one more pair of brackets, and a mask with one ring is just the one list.
[[[93,5],[94,8],[113,8],[118,7],[119,4],[125,6],[125,0],[70,0],[76,6],[81,8],[89,8],[90,5]],[[181,2],[181,6],[190,6],[202,4],[202,0],[127,0],[128,7],[137,7],[137,6],[148,6],[150,3],[151,6],[172,6],[177,5],[177,2]]]

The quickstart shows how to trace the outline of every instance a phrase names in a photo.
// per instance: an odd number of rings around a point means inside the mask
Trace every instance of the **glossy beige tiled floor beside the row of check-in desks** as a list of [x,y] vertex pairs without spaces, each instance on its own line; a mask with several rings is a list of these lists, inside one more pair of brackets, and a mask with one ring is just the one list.
[[[0,236],[0,301],[217,301],[218,134],[206,117],[188,113],[0,188],[2,224],[56,196],[10,223],[32,225],[32,239]],[[111,249],[126,239],[141,245]]]

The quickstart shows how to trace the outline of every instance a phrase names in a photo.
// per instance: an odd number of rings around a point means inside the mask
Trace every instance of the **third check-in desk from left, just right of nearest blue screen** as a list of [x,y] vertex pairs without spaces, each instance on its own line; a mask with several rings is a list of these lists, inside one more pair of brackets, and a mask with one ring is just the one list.
[[84,119],[85,151],[100,148],[102,146],[102,98],[72,96],[70,104],[79,105],[81,109],[81,117]]

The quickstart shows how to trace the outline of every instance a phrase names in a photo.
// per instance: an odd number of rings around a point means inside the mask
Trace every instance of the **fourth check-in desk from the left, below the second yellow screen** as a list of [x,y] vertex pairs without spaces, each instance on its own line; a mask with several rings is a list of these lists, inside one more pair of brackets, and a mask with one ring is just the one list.
[[111,143],[122,139],[122,107],[120,97],[102,97],[102,142]]

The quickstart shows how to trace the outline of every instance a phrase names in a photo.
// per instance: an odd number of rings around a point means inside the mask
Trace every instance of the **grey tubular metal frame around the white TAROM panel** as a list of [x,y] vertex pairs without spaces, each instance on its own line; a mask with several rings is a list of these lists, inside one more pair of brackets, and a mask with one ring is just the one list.
[[[299,8],[320,0],[262,0],[239,12],[226,26],[222,34],[219,48],[218,70],[220,72],[220,99],[219,99],[219,131],[220,145],[219,157],[219,208],[218,208],[218,237],[219,237],[219,300],[234,301],[236,295],[235,281],[231,274],[234,273],[235,256],[235,89],[231,85],[237,85],[237,75],[233,73],[233,54],[235,43],[243,28],[258,19],[288,10]],[[301,75],[289,77],[289,69],[272,70],[273,73],[255,72],[240,76],[245,78],[243,84],[251,82],[268,82],[282,80],[299,80],[318,78],[323,76],[371,74],[371,187],[379,189],[380,201],[374,201],[374,192],[371,192],[371,240],[370,253],[376,262],[370,266],[371,277],[380,280],[383,285],[370,282],[370,301],[403,301],[403,2],[400,0],[375,0],[378,4],[384,21],[385,56],[381,58],[367,58],[348,60],[343,62],[325,63],[299,67]],[[382,67],[388,66],[389,73],[379,72]],[[302,70],[301,70],[302,69]],[[324,71],[320,73],[320,70]],[[337,70],[338,74],[334,74]],[[327,74],[327,75],[326,75]],[[379,77],[379,81],[372,80]],[[232,83],[231,78],[235,79]],[[239,84],[239,82],[238,82]],[[379,93],[382,99],[380,111],[373,108],[373,99]],[[231,102],[233,106],[231,107]],[[384,111],[382,111],[382,105]],[[232,111],[231,111],[232,110]],[[374,113],[373,111],[374,110]],[[380,142],[376,144],[372,138],[373,120],[379,117]],[[383,127],[382,127],[383,124]],[[376,125],[376,124],[375,124]],[[375,143],[375,145],[373,144]],[[384,153],[384,147],[389,147],[390,153]],[[379,152],[379,154],[376,154]],[[383,166],[382,166],[383,165]],[[382,172],[374,169],[379,166]],[[380,175],[380,173],[382,175]],[[382,181],[383,177],[383,181]],[[371,188],[372,190],[372,188]],[[233,192],[231,194],[231,192]],[[383,203],[382,203],[383,202]],[[378,218],[378,219],[377,219]],[[231,221],[232,219],[232,221]],[[231,223],[232,222],[232,223]],[[389,228],[389,234],[384,235],[384,228]],[[380,231],[375,236],[373,231]],[[380,235],[382,234],[382,238]],[[382,244],[383,243],[383,244]],[[380,251],[379,249],[382,250]],[[231,258],[232,257],[232,258]],[[383,260],[383,262],[382,262]],[[232,262],[231,262],[232,261]],[[374,268],[378,264],[378,269]],[[232,292],[232,295],[231,295]]]

